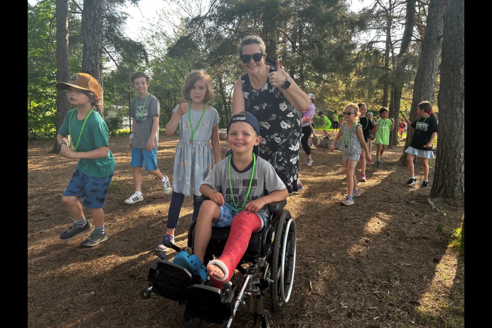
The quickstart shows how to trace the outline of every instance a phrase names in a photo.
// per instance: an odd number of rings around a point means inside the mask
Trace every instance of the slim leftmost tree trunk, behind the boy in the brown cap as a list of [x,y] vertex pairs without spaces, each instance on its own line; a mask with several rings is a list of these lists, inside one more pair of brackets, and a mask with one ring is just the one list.
[[[70,64],[68,60],[68,2],[56,0],[56,80],[68,82]],[[65,115],[70,110],[67,93],[63,90],[56,92],[56,134],[63,124]],[[55,139],[53,153],[57,154],[58,144]]]

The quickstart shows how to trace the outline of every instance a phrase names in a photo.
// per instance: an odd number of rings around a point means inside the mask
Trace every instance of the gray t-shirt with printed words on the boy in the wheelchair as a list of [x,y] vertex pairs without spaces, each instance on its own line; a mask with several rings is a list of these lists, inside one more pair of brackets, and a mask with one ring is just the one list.
[[[237,208],[241,208],[244,202],[244,197],[248,192],[250,186],[251,171],[253,166],[250,165],[249,169],[244,172],[237,172],[232,164],[231,160],[231,183],[229,183],[229,157],[222,159],[209,173],[203,185],[207,185],[210,188],[222,193],[224,200],[230,205],[234,206],[232,196],[236,201]],[[232,185],[232,186],[231,186]],[[261,157],[256,158],[256,168],[253,174],[253,182],[251,183],[251,190],[246,203],[251,200],[258,199],[276,190],[284,190],[285,185],[275,173],[275,169],[270,162],[264,160]],[[258,213],[268,216],[268,205],[265,205]]]

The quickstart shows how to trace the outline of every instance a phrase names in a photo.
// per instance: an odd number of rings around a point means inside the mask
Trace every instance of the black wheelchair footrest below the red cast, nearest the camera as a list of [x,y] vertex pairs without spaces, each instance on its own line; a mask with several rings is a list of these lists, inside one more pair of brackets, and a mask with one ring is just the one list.
[[223,324],[232,316],[234,293],[229,296],[212,286],[194,284],[186,290],[187,310],[196,318]]

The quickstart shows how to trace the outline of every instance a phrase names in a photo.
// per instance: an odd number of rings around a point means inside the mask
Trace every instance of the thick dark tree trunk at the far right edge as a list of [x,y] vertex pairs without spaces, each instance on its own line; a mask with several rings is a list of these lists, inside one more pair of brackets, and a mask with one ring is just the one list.
[[439,141],[430,197],[453,204],[465,199],[465,4],[448,0],[444,16]]

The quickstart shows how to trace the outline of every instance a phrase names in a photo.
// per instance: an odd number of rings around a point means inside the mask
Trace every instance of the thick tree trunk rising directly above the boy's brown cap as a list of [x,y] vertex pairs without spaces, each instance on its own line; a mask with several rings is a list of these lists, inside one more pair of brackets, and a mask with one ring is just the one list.
[[101,86],[99,114],[103,116],[103,5],[101,0],[84,0],[82,34],[84,40],[82,71],[91,74]]

